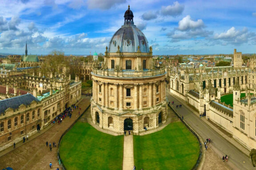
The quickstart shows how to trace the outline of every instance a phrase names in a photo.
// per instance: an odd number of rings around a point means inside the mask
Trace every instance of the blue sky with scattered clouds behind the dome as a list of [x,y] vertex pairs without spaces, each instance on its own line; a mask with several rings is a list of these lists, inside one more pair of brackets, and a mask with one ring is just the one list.
[[0,53],[104,53],[128,4],[153,54],[256,53],[254,0],[0,0]]

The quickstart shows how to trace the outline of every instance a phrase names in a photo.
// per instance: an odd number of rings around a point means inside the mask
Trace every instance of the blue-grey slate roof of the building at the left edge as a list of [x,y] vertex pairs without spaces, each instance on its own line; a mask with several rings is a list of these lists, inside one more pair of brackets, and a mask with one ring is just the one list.
[[4,111],[8,108],[17,109],[21,104],[28,105],[31,104],[32,101],[39,102],[39,100],[30,93],[0,100],[0,115],[3,114]]

